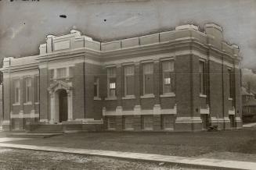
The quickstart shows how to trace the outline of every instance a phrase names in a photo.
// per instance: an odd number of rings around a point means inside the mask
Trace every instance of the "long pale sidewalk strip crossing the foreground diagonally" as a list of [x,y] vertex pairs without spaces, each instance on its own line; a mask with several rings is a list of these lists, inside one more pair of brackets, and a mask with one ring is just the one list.
[[246,161],[225,161],[218,159],[207,159],[207,158],[186,158],[186,157],[175,157],[165,156],[160,154],[140,154],[132,152],[119,152],[119,151],[99,151],[99,150],[86,150],[76,149],[67,147],[41,147],[34,145],[23,145],[23,144],[11,144],[11,143],[0,143],[0,147],[10,147],[16,149],[26,149],[34,151],[53,151],[70,154],[85,154],[104,156],[110,158],[124,158],[133,159],[138,161],[157,161],[167,162],[177,165],[190,165],[193,167],[200,168],[218,168],[218,169],[256,169],[256,163]]

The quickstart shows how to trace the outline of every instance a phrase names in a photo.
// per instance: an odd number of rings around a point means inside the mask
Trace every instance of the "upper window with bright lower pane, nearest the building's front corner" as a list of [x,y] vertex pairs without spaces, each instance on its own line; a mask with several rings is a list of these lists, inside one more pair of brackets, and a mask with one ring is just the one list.
[[163,94],[174,92],[175,90],[174,61],[162,62],[162,68],[163,68]]

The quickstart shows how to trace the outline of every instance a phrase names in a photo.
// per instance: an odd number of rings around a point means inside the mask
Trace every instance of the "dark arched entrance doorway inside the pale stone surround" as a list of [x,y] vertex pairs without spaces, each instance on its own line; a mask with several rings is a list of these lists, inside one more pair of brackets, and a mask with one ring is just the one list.
[[67,91],[59,90],[59,122],[67,121]]

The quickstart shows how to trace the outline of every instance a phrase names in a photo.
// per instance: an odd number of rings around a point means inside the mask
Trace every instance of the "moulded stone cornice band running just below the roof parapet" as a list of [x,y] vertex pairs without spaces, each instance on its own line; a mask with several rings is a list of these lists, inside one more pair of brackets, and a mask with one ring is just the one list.
[[[217,57],[223,58],[224,60],[230,61],[234,60],[235,62],[239,62],[238,58],[235,58],[233,55],[229,55],[225,51],[221,51],[217,48],[211,47],[207,44],[203,44],[198,41],[196,38],[186,38],[182,40],[175,40],[175,41],[167,41],[158,44],[148,44],[143,46],[138,46],[135,48],[125,48],[125,49],[118,49],[114,51],[94,51],[87,48],[79,48],[76,50],[71,51],[59,51],[53,52],[46,55],[38,55],[38,62],[34,64],[27,64],[27,65],[20,65],[20,66],[11,66],[9,68],[2,68],[2,71],[12,70],[19,71],[21,69],[36,69],[38,68],[38,64],[40,66],[40,62],[49,62],[52,60],[58,60],[60,58],[76,58],[88,56],[96,58],[100,60],[100,62],[107,62],[108,60],[120,60],[122,58],[131,58],[132,57],[139,57],[139,56],[146,56],[146,55],[160,55],[164,53],[170,53],[172,56],[179,54],[182,51],[179,48],[186,48],[186,50],[198,48],[200,51],[204,51],[207,54],[207,51],[213,52]],[[184,51],[184,50],[183,50]]]

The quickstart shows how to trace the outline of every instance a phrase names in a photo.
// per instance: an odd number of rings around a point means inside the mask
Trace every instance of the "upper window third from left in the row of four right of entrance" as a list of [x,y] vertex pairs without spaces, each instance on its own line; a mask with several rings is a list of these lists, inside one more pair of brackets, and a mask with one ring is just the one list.
[[153,94],[153,63],[143,64],[143,94]]

